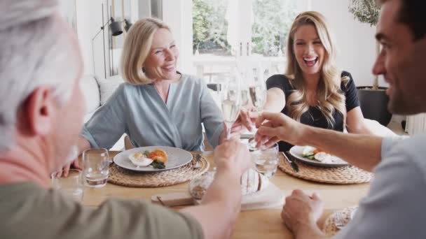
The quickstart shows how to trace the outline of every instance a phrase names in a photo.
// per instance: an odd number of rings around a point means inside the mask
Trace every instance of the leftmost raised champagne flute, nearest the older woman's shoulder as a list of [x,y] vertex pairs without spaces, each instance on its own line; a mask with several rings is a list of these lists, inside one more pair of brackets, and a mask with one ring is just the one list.
[[231,137],[231,128],[241,106],[241,77],[237,69],[224,75],[224,87],[221,89],[221,104],[226,124],[226,138]]

